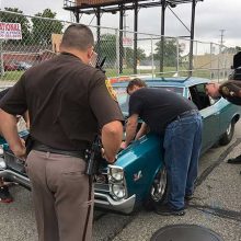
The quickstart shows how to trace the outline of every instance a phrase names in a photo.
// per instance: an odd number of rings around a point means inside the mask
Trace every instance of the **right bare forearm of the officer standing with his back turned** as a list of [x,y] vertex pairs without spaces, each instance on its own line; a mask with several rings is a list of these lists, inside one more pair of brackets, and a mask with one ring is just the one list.
[[114,120],[105,124],[102,128],[102,145],[104,156],[110,163],[115,161],[123,138],[123,125],[119,120]]

